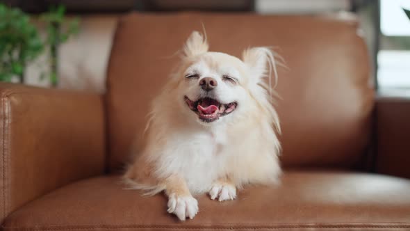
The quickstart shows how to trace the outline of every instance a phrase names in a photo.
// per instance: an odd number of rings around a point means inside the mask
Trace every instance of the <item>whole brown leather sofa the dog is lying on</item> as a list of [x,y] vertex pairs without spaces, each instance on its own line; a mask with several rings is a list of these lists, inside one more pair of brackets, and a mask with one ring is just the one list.
[[[199,196],[199,214],[180,222],[164,196],[124,190],[116,173],[201,22],[213,51],[279,47],[286,171],[234,201]],[[375,97],[359,34],[334,17],[133,13],[118,24],[105,95],[1,83],[2,229],[410,230],[410,99]]]

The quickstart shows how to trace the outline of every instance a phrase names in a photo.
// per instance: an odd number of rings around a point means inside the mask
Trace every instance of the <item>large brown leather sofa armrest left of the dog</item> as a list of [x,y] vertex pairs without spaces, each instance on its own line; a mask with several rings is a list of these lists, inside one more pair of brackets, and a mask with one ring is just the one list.
[[59,186],[104,173],[101,95],[0,83],[0,223]]

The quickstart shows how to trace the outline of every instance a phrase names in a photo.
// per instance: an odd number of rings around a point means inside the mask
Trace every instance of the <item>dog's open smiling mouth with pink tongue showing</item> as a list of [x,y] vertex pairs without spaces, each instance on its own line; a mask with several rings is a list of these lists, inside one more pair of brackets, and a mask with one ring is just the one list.
[[236,102],[221,104],[218,100],[209,97],[204,97],[197,101],[192,101],[188,97],[185,97],[185,102],[191,111],[197,113],[199,119],[204,122],[213,122],[218,120],[220,116],[227,116],[238,106]]

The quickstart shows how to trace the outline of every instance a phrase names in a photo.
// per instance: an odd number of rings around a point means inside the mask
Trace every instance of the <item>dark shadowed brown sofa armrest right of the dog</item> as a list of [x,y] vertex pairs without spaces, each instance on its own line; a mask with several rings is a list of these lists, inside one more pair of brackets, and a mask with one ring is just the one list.
[[377,97],[376,118],[375,170],[410,178],[410,97]]

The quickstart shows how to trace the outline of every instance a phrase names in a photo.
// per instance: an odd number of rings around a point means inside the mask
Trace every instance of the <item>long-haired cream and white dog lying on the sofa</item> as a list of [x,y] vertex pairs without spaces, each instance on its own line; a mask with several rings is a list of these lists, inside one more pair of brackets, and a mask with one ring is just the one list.
[[197,214],[198,193],[222,202],[247,184],[277,183],[275,56],[268,47],[245,49],[242,60],[211,52],[206,35],[193,31],[151,104],[145,147],[124,174],[130,188],[165,191],[167,212],[184,221]]

